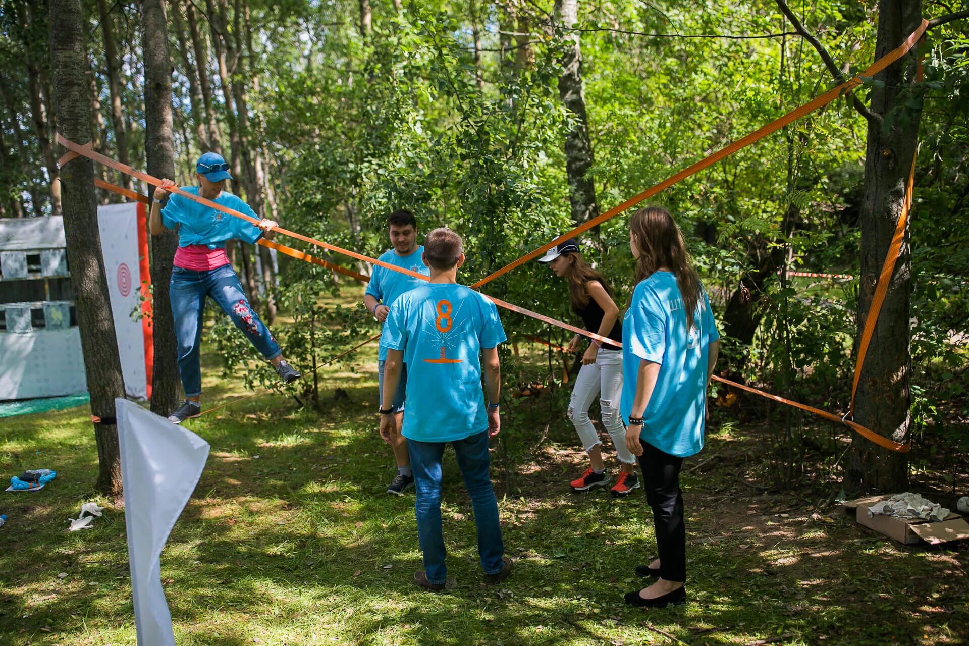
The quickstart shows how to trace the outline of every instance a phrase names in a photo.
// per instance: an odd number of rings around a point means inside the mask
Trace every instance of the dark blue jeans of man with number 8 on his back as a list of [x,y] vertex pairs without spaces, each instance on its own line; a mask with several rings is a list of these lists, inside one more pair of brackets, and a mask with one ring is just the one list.
[[[431,583],[444,583],[448,578],[448,568],[444,564],[447,549],[441,528],[441,460],[446,444],[407,441],[417,488],[414,515],[418,521],[418,539],[421,541],[424,570]],[[504,566],[501,557],[505,554],[505,544],[498,525],[498,501],[495,500],[488,475],[487,432],[482,431],[451,444],[457,456],[457,466],[464,477],[464,487],[471,496],[471,505],[475,510],[482,569],[485,574],[495,574]]]

